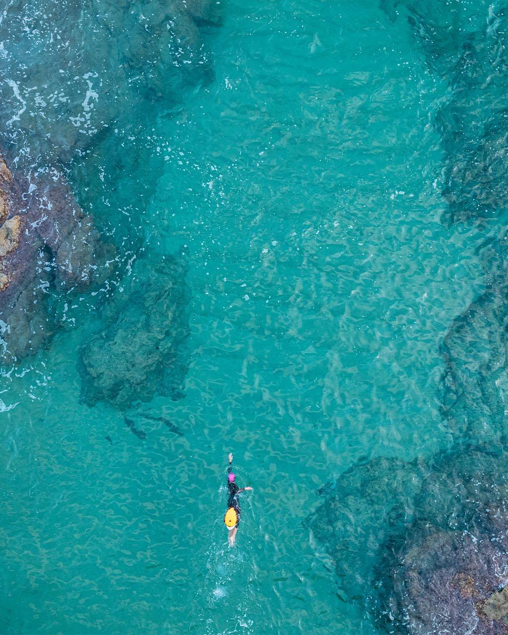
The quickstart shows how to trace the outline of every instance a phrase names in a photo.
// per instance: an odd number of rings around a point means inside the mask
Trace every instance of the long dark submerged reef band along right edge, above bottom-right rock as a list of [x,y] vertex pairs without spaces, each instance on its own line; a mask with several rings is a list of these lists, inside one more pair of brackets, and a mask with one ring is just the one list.
[[454,319],[441,346],[441,415],[456,442],[505,442],[508,228],[488,221],[505,224],[508,210],[508,6],[479,6],[476,21],[434,0],[382,0],[380,7],[392,22],[406,17],[423,64],[445,88],[434,117],[445,152],[443,223],[474,221],[488,230],[479,250],[486,291]]

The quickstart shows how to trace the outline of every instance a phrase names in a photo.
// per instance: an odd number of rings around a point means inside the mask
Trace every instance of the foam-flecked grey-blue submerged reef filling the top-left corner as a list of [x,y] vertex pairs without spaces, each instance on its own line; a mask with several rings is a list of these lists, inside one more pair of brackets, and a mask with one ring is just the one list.
[[0,25],[10,68],[0,81],[4,143],[21,161],[35,143],[45,161],[67,163],[105,135],[135,135],[135,112],[178,109],[187,90],[213,78],[203,32],[221,21],[217,0],[111,0],[100,11],[90,0],[11,1]]

